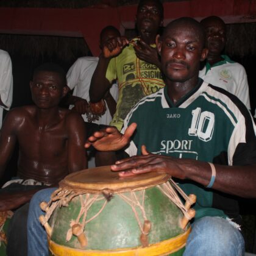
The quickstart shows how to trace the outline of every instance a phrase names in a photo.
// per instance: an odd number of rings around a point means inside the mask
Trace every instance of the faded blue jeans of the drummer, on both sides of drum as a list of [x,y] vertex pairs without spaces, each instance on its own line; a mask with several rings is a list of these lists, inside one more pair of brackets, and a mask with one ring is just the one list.
[[[48,241],[38,218],[44,215],[40,202],[50,200],[56,188],[38,191],[30,201],[27,218],[28,256],[48,256]],[[204,217],[195,221],[183,256],[243,256],[244,239],[230,221],[220,217]]]

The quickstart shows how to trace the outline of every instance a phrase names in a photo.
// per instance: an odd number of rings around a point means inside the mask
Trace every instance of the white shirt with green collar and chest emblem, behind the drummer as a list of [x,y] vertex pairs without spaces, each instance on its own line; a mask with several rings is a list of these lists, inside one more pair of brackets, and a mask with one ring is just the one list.
[[221,57],[224,60],[215,63],[213,66],[206,63],[204,68],[199,72],[199,77],[209,84],[221,87],[234,94],[251,110],[249,86],[244,67],[230,60],[227,55],[221,55]]

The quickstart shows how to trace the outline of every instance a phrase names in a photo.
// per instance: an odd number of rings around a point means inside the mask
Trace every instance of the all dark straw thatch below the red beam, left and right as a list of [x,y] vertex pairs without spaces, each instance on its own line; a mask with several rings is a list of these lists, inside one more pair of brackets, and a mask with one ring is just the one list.
[[[127,30],[127,35],[134,34]],[[226,53],[230,56],[256,56],[256,23],[228,24]],[[10,55],[26,57],[57,58],[74,62],[77,56],[91,55],[84,38],[57,37],[43,35],[0,34],[0,49]]]

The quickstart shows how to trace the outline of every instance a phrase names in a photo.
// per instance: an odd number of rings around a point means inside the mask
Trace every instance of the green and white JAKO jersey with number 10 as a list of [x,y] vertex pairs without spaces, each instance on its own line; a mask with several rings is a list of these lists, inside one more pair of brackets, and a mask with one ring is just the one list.
[[[202,79],[176,105],[166,87],[144,97],[127,115],[124,129],[131,123],[137,123],[137,130],[126,149],[130,156],[140,155],[144,144],[154,154],[222,165],[256,163],[256,128],[249,111],[235,96]],[[196,218],[238,218],[232,197],[188,180],[179,183],[185,193],[197,196]]]

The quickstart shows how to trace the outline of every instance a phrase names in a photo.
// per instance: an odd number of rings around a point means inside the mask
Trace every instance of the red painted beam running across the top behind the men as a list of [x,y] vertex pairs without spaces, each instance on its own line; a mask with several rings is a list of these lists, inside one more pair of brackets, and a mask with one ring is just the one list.
[[[165,2],[165,25],[181,16],[201,20],[220,16],[226,23],[256,22],[256,0],[184,0]],[[99,33],[113,25],[123,34],[134,28],[137,6],[84,9],[0,8],[0,33],[83,36],[93,55],[99,54]]]

